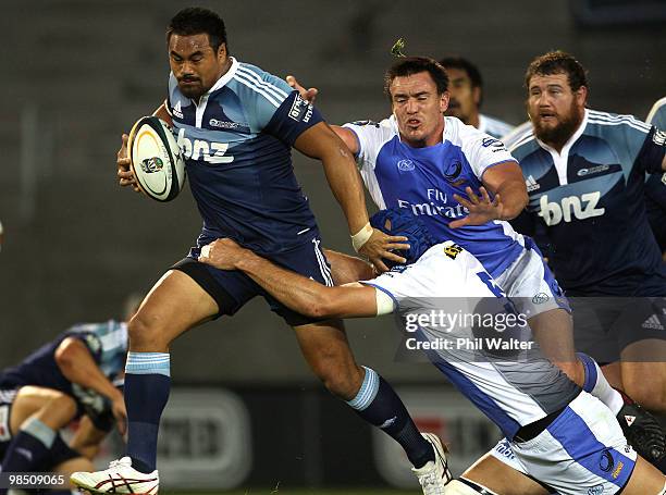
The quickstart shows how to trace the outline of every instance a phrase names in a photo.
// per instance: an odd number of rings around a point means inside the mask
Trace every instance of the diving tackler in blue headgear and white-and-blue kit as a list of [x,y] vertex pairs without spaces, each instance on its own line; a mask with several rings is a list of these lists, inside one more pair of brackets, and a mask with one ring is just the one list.
[[[441,308],[436,301],[442,298],[461,294],[470,308],[478,301],[476,311],[483,308],[484,313],[489,308],[506,308],[502,305],[507,299],[470,252],[451,240],[433,245],[420,219],[397,208],[377,213],[372,219],[375,227],[408,237],[408,264],[374,280],[344,286],[326,287],[308,280],[231,239],[213,242],[202,249],[199,259],[220,269],[242,270],[296,311],[316,318],[375,317],[396,311],[404,323],[410,317],[419,322],[417,333],[407,334],[417,342],[451,344],[425,352],[504,432],[504,443],[517,460],[514,466],[502,465],[483,488],[479,484],[472,487],[471,477],[453,481],[433,494],[541,495],[548,493],[544,486],[563,495],[666,493],[666,478],[627,445],[614,413],[571,382],[536,347],[528,346],[532,350],[525,354],[470,350],[459,339],[470,342],[477,335],[473,329],[457,325],[443,330],[436,321],[421,318]],[[510,333],[520,338],[523,332],[529,329],[516,325],[495,335]]]

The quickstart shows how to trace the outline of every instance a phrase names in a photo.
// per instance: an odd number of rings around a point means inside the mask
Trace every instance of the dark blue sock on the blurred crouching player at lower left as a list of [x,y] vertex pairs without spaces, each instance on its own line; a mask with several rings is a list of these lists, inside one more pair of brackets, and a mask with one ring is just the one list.
[[49,454],[55,432],[37,418],[27,419],[7,449],[2,459],[4,472],[34,471]]

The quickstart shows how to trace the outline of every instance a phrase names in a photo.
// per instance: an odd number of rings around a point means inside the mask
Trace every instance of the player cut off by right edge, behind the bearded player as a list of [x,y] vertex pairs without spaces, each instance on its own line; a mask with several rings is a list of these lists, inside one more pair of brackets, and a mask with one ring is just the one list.
[[[645,119],[646,124],[666,132],[666,97],[657,100]],[[662,256],[666,256],[666,174],[652,174],[645,182],[645,210]]]

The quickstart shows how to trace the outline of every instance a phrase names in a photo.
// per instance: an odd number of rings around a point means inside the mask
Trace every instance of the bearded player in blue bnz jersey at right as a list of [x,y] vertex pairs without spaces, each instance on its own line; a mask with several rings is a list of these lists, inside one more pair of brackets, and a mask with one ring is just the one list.
[[577,348],[613,362],[604,372],[614,385],[666,411],[666,334],[662,310],[646,299],[658,305],[666,296],[666,274],[643,201],[645,172],[666,166],[664,134],[630,115],[587,109],[585,71],[562,51],[535,58],[526,86],[532,128],[510,150],[530,201],[515,226],[544,228],[548,262],[574,297]]

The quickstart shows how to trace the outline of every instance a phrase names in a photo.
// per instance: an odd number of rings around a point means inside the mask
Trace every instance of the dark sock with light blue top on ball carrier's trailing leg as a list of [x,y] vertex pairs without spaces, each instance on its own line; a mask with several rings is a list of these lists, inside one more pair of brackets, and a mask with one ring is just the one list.
[[407,408],[393,387],[374,370],[366,368],[363,383],[347,404],[369,423],[379,426],[403,446],[415,468],[434,460],[430,443],[421,436]]

